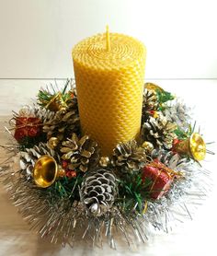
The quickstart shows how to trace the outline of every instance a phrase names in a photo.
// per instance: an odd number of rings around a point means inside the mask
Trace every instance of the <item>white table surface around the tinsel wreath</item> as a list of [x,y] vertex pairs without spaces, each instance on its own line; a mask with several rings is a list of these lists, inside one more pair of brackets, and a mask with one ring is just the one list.
[[[197,123],[207,142],[217,142],[217,80],[159,80],[153,81],[166,90],[175,92],[195,107]],[[0,122],[8,120],[12,110],[18,111],[21,105],[30,102],[38,89],[50,81],[44,80],[0,80]],[[63,84],[63,82],[59,82]],[[4,143],[1,129],[0,145]],[[217,146],[212,145],[217,152]],[[0,160],[3,156],[0,157]],[[79,242],[74,249],[51,245],[41,240],[17,213],[0,185],[0,255],[145,255],[145,256],[186,256],[217,255],[216,250],[216,196],[217,196],[217,157],[208,156],[202,165],[211,170],[213,187],[211,194],[199,207],[192,221],[180,224],[170,234],[155,236],[137,249],[120,247],[111,250],[105,244],[103,249],[92,248],[86,241]]]

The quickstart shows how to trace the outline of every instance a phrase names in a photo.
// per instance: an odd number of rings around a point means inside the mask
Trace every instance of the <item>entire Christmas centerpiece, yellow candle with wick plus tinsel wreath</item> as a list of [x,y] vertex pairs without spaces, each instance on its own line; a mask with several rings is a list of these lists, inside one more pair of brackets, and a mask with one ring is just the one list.
[[13,145],[4,147],[15,157],[1,180],[42,238],[73,245],[84,230],[95,243],[130,245],[191,217],[188,205],[206,195],[199,161],[211,152],[181,100],[143,85],[145,52],[109,30],[81,41],[75,83],[42,88],[14,112]]

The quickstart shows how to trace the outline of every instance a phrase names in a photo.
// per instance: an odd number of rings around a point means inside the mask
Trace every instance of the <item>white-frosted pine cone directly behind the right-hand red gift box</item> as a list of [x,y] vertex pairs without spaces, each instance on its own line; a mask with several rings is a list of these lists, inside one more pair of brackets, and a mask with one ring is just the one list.
[[183,164],[188,162],[187,158],[182,158],[178,154],[172,151],[167,151],[165,149],[154,149],[151,157],[153,159],[158,159],[161,163],[166,165],[169,169],[181,170]]

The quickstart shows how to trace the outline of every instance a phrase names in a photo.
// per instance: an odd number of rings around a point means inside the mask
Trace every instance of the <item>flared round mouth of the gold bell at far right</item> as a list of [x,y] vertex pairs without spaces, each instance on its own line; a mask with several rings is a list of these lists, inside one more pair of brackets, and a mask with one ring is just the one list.
[[189,139],[189,149],[192,157],[198,161],[206,156],[206,144],[200,134],[191,134]]

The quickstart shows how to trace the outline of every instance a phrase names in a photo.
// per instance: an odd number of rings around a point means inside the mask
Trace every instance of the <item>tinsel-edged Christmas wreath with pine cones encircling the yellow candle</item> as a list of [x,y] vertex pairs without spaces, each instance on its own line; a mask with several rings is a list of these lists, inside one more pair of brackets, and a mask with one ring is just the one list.
[[101,243],[105,236],[112,248],[120,234],[129,245],[132,235],[144,241],[191,218],[189,207],[206,196],[209,173],[199,161],[212,152],[190,116],[180,99],[146,83],[140,138],[105,157],[81,133],[72,80],[60,91],[40,89],[35,104],[14,112],[6,128],[14,143],[4,145],[11,157],[1,180],[41,238],[73,245],[82,228],[83,239]]

